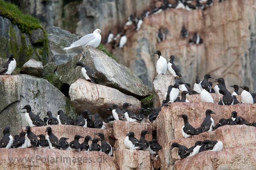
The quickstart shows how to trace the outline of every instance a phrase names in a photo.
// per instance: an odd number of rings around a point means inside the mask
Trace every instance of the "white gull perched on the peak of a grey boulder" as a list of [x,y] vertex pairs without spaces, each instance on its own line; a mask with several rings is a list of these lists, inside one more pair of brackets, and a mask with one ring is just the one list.
[[84,37],[72,43],[70,47],[65,47],[63,49],[66,50],[67,52],[73,51],[73,50],[83,50],[84,47],[86,47],[87,45],[97,48],[100,45],[100,41],[101,41],[100,33],[101,33],[100,29],[95,29],[93,33],[84,35]]

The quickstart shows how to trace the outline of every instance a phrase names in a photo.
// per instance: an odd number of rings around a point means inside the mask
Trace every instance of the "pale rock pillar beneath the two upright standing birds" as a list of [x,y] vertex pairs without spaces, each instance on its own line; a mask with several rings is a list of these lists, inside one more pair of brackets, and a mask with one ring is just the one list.
[[168,74],[158,74],[153,82],[153,106],[160,107],[163,100],[166,99],[165,94],[170,85],[176,83],[174,76]]

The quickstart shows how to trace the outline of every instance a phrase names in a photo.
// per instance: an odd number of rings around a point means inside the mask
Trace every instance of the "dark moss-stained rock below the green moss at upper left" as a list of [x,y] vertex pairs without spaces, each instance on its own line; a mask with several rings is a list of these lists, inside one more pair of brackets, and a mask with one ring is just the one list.
[[[40,32],[42,32],[41,29]],[[21,67],[28,59],[42,61],[45,64],[48,61],[45,37],[40,36],[40,39],[32,42],[31,36],[33,34],[21,32],[18,25],[13,25],[9,19],[0,16],[0,57],[6,59],[9,53],[13,53],[17,67]]]

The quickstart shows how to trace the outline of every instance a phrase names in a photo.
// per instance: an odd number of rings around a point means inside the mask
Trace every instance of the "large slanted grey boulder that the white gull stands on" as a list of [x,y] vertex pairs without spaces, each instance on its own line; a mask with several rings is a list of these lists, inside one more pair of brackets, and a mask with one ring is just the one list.
[[114,59],[108,57],[106,53],[90,46],[84,48],[82,54],[76,55],[69,62],[58,66],[57,73],[61,82],[71,85],[78,78],[82,78],[81,67],[74,69],[78,61],[94,70],[96,77],[98,77],[95,78],[97,84],[116,88],[120,92],[138,99],[145,98],[151,94],[148,86],[134,75],[129,68],[118,64]]

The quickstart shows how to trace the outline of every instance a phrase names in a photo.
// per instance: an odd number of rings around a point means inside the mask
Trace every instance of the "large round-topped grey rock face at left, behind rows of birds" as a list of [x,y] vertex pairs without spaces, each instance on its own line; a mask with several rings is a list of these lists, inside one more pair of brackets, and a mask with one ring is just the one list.
[[21,127],[28,125],[24,119],[26,110],[21,110],[27,104],[34,114],[41,112],[41,119],[47,117],[47,111],[52,111],[56,117],[60,109],[69,117],[75,117],[70,100],[42,78],[26,74],[0,75],[0,94],[0,127],[10,126],[12,135],[18,134]]

